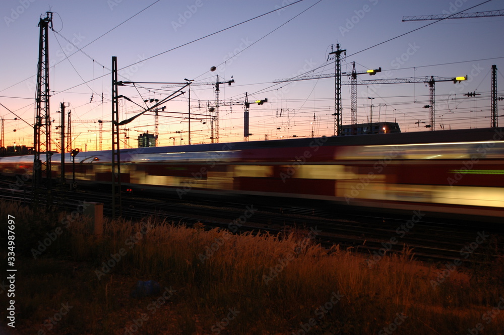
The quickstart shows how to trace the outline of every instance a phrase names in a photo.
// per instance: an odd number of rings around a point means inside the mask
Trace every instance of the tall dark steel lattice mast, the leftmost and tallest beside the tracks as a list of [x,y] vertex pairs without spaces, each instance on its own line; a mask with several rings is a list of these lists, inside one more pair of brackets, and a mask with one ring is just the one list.
[[51,119],[49,111],[49,25],[52,28],[52,13],[46,12],[45,18],[40,18],[38,69],[37,69],[37,97],[33,137],[33,187],[34,203],[39,200],[39,191],[42,186],[42,160],[45,152],[45,173],[48,204],[51,205]]

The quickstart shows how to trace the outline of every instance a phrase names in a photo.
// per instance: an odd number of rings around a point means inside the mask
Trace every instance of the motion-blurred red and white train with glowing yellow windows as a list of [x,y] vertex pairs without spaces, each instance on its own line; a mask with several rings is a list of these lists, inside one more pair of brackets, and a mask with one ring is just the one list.
[[[503,138],[504,128],[484,128],[123,149],[121,187],[504,217]],[[53,178],[59,162],[54,154]],[[33,156],[0,159],[5,176],[32,166]],[[81,152],[75,170],[79,184],[109,184],[111,152]]]

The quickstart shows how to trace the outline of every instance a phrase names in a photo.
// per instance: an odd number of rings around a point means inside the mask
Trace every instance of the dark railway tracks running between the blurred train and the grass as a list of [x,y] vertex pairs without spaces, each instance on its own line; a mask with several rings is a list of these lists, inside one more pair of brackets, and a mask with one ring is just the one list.
[[[11,183],[12,184],[12,183]],[[6,200],[29,204],[32,200],[29,184],[18,189],[0,182],[0,195]],[[41,206],[47,206],[41,199]],[[104,214],[111,215],[111,197],[94,191],[54,191],[53,204],[62,210],[74,210],[82,202],[101,202]],[[478,222],[453,222],[434,220],[428,215],[412,210],[408,215],[380,213],[341,212],[340,209],[323,209],[293,206],[272,206],[254,203],[226,203],[214,201],[186,202],[179,199],[145,199],[125,194],[122,197],[124,217],[140,219],[153,216],[173,222],[192,225],[202,222],[207,229],[237,227],[239,231],[284,233],[297,227],[308,231],[316,227],[316,240],[324,247],[339,244],[341,248],[355,248],[377,259],[384,253],[413,249],[415,258],[426,261],[451,261],[462,258],[464,247],[480,241],[481,235],[501,236],[502,228]],[[245,213],[248,211],[247,216]],[[338,212],[339,211],[339,212]],[[380,214],[380,215],[379,215]],[[239,220],[239,221],[236,221]],[[500,242],[497,247],[502,247]],[[479,244],[478,244],[479,247]],[[481,256],[481,251],[471,251],[471,257]],[[466,253],[463,254],[466,256]]]

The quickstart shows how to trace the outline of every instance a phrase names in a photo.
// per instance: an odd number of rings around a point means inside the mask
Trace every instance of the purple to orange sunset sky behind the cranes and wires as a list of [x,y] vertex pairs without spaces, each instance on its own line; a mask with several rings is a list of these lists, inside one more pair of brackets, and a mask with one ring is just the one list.
[[[243,140],[245,92],[249,101],[268,99],[263,105],[250,105],[250,141],[264,140],[265,135],[270,140],[309,137],[312,129],[315,136],[333,135],[334,78],[273,82],[301,74],[334,73],[334,60],[328,60],[328,53],[336,43],[347,50],[343,72],[352,70],[353,61],[358,72],[382,68],[381,74],[360,75],[359,80],[467,75],[463,84],[436,83],[436,129],[440,125],[445,129],[488,127],[492,64],[497,65],[498,86],[504,82],[504,47],[499,42],[504,17],[444,20],[398,36],[433,22],[401,22],[403,16],[503,7],[504,2],[498,0],[3,1],[0,103],[26,121],[9,120],[16,116],[0,106],[0,116],[6,119],[6,145],[33,143],[33,128],[27,123],[33,124],[35,112],[37,25],[47,11],[54,13],[55,31],[49,32],[51,118],[55,119],[52,149],[57,150],[59,139],[56,111],[65,102],[74,121],[74,147],[84,150],[87,144],[87,150],[95,150],[99,149],[97,120],[111,119],[112,56],[117,56],[123,81],[195,80],[191,112],[202,115],[192,120],[192,144],[210,143],[207,104],[215,103],[214,86],[196,84],[215,82],[217,75],[220,81],[235,81],[220,86],[224,105],[220,107],[220,142]],[[211,72],[211,66],[217,70]],[[342,80],[346,83],[348,77]],[[162,99],[177,89],[162,86],[119,87],[119,94],[145,106],[145,99]],[[473,91],[481,95],[463,95]],[[167,102],[165,111],[187,112],[188,92],[184,92]],[[429,111],[423,108],[429,101],[425,84],[359,85],[357,92],[359,122],[367,122],[372,102],[373,121],[396,121],[408,132],[428,130],[423,123],[421,127],[415,124],[429,121]],[[503,90],[498,92],[504,95]],[[343,86],[342,96],[343,124],[349,124],[350,86]],[[501,105],[498,115],[504,114],[504,102]],[[121,120],[140,110],[125,100],[119,109]],[[173,145],[173,138],[177,145],[187,144],[187,120],[180,118],[184,114],[160,114],[158,145]],[[499,124],[503,122],[501,117]],[[154,123],[154,116],[143,115],[128,124],[129,130],[123,132],[130,137],[129,145],[137,146],[140,133],[154,132]],[[103,149],[110,148],[110,128],[110,123],[104,123]]]

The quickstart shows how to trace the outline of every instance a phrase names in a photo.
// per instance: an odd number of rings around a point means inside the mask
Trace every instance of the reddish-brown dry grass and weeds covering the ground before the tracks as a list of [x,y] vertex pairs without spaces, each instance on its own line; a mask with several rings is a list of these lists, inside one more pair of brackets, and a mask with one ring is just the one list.
[[[105,219],[97,237],[80,214],[9,203],[0,212],[2,245],[5,218],[16,217],[15,334],[504,333],[502,257],[453,269],[405,249],[369,266],[353,249],[316,244],[316,230],[236,235]],[[160,290],[136,297],[139,280]]]

